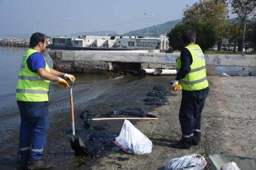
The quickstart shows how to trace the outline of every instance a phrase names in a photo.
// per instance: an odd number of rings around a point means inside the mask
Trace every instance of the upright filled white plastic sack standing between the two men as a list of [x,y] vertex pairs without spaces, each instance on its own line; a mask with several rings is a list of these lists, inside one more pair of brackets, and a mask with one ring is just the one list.
[[134,155],[151,153],[153,145],[151,140],[128,120],[125,120],[122,130],[119,136],[115,138],[114,143],[125,152]]

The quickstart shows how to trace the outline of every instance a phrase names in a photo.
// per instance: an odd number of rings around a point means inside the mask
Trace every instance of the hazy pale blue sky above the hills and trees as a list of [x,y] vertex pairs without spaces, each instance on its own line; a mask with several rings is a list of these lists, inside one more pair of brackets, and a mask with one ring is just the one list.
[[[129,32],[182,19],[198,0],[0,0],[0,34]],[[144,12],[146,15],[144,15]],[[147,17],[153,14],[152,17]],[[63,17],[61,17],[61,15]],[[70,18],[71,17],[71,18]]]

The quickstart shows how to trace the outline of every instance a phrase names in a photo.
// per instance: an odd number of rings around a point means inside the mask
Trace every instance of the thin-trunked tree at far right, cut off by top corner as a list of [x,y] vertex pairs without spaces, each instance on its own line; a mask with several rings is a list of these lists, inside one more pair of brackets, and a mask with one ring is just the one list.
[[242,45],[239,48],[243,53],[242,49],[244,47],[246,20],[256,16],[256,0],[230,0],[230,3],[233,8],[232,13],[236,13],[241,24],[243,23]]

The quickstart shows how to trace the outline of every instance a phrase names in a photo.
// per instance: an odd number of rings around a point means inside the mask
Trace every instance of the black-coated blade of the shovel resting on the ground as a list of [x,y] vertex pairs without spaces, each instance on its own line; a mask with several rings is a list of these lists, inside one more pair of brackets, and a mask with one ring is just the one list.
[[75,155],[80,156],[88,156],[88,150],[85,147],[85,144],[83,143],[83,140],[79,136],[74,136],[73,134],[71,136],[68,136],[69,142],[71,144],[72,149],[75,152]]

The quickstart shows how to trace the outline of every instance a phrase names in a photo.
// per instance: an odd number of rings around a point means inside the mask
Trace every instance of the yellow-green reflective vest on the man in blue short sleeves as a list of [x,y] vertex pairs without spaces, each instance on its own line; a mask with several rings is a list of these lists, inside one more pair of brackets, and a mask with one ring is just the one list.
[[[24,102],[46,102],[48,101],[48,91],[50,81],[44,80],[35,72],[29,70],[27,65],[28,57],[37,53],[35,49],[29,48],[23,56],[18,84],[16,87],[16,100]],[[44,60],[45,61],[45,60]],[[45,70],[50,72],[50,68],[45,61]]]

